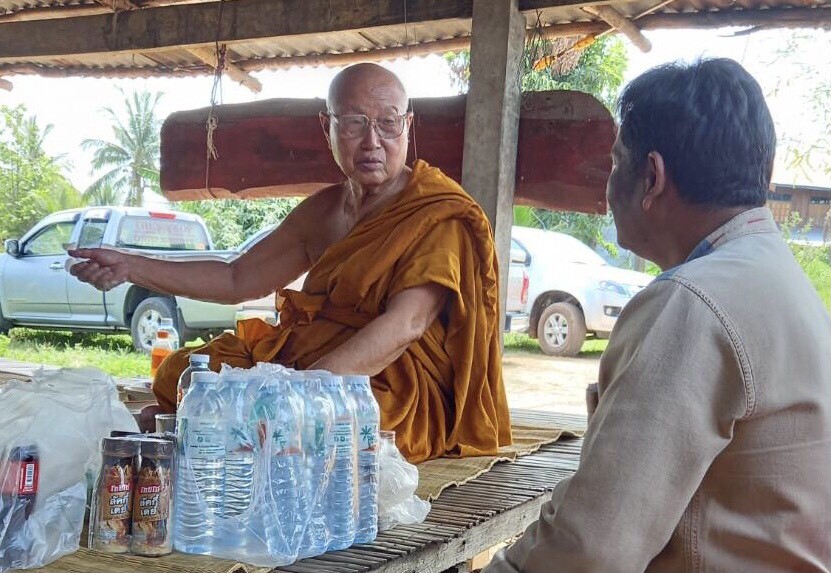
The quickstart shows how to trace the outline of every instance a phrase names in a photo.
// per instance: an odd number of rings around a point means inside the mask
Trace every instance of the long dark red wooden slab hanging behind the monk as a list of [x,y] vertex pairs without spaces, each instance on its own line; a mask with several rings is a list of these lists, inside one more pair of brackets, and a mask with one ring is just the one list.
[[[174,113],[161,131],[161,187],[171,201],[309,195],[339,183],[321,132],[322,100],[272,99],[214,109],[218,127],[206,187],[208,108]],[[419,158],[461,179],[465,96],[412,100],[415,121],[409,160]],[[611,115],[580,92],[523,97],[515,202],[605,213]]]

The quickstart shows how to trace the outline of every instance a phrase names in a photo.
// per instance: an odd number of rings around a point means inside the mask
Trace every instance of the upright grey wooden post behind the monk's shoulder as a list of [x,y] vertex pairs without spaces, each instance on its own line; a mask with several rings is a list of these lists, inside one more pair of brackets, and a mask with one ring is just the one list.
[[499,258],[504,327],[519,134],[525,18],[517,0],[473,0],[462,187],[485,210]]

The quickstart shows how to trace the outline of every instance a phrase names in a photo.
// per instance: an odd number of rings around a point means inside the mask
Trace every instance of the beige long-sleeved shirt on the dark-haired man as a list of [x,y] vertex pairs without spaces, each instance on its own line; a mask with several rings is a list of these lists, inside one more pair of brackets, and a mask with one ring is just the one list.
[[831,569],[831,318],[766,208],[626,306],[580,469],[487,573]]

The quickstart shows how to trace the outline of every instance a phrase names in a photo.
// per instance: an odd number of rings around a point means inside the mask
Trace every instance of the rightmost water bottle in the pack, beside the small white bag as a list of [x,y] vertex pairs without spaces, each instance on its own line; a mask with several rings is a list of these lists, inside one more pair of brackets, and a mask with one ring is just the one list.
[[381,410],[368,376],[344,376],[355,401],[358,420],[358,524],[355,543],[370,543],[378,535],[378,442]]

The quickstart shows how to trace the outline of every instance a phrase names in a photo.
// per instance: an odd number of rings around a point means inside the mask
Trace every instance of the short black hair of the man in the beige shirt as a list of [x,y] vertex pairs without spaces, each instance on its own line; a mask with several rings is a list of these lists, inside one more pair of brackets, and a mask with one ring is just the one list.
[[776,133],[762,89],[738,62],[659,66],[618,101],[630,168],[657,151],[686,201],[704,206],[765,204]]

